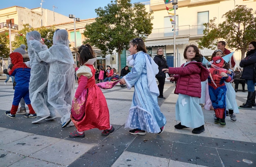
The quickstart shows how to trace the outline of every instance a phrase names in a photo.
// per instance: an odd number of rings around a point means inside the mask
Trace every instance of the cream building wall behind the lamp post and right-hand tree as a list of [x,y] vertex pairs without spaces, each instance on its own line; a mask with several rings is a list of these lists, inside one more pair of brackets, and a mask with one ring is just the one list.
[[[209,20],[216,17],[216,23],[219,24],[223,22],[225,19],[222,18],[222,15],[227,11],[235,8],[235,5],[246,5],[248,8],[252,8],[255,13],[256,10],[256,1],[255,0],[178,0],[178,9],[176,10],[176,15],[178,16],[178,27],[176,27],[176,32],[179,31],[179,34],[176,35],[176,53],[178,49],[178,53],[180,56],[177,56],[176,67],[182,65],[185,62],[183,58],[183,52],[186,45],[195,44],[198,45],[199,39],[202,38],[203,34],[195,34],[198,28],[198,12],[209,12]],[[173,9],[173,4],[164,4],[163,0],[150,0],[150,4],[148,2],[144,2],[146,5],[146,9],[153,10],[153,33],[156,32],[173,32],[173,25],[170,21],[169,29],[164,26],[164,17],[173,16],[172,14],[168,15],[168,11],[166,10],[166,6],[169,9]],[[169,13],[174,13],[173,11],[169,11]],[[256,16],[256,15],[255,15]],[[163,30],[164,29],[164,30]],[[183,32],[183,33],[181,33]],[[156,33],[155,35],[150,34],[148,39],[145,40],[147,47],[160,47],[164,46],[166,48],[165,53],[173,53],[174,39],[172,36],[163,37],[161,33]],[[154,45],[155,44],[155,45]],[[165,45],[160,45],[165,44]],[[236,51],[235,48],[229,48],[228,44],[226,46],[227,49],[231,51],[235,51],[234,57],[236,62],[240,62],[241,52]],[[217,47],[216,47],[217,49]],[[213,50],[211,49],[201,49],[201,53],[204,56],[211,56]]]

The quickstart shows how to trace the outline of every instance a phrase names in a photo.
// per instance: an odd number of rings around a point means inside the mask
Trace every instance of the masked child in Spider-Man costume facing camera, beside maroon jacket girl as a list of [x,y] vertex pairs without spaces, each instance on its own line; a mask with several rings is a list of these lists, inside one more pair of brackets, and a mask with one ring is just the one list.
[[225,126],[227,91],[225,82],[230,82],[232,77],[227,73],[228,70],[223,68],[226,64],[223,58],[219,56],[213,57],[211,64],[211,68],[209,69],[210,76],[208,77],[208,85],[210,99],[217,117],[214,123]]

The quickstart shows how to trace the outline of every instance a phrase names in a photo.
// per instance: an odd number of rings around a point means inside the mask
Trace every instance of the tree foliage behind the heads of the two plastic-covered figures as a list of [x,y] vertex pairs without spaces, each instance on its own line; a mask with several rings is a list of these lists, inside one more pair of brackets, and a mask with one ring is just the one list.
[[46,28],[43,26],[43,27],[38,27],[34,29],[33,27],[29,27],[29,24],[23,24],[23,27],[24,28],[18,31],[18,33],[14,37],[14,40],[11,42],[11,46],[13,50],[20,47],[21,44],[24,44],[27,47],[26,34],[27,32],[30,32],[30,31],[38,31],[41,34],[41,37],[45,39],[44,42],[48,48],[53,45],[52,38],[53,38],[53,33],[55,32],[54,27]]

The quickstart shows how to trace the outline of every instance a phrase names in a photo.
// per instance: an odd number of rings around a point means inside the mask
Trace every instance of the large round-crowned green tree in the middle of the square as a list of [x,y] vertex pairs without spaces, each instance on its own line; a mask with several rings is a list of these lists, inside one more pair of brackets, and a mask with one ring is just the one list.
[[117,50],[118,71],[121,71],[121,52],[128,49],[132,38],[147,38],[153,29],[152,11],[146,12],[143,4],[130,0],[111,1],[106,7],[95,9],[97,18],[85,26],[85,41],[106,54]]

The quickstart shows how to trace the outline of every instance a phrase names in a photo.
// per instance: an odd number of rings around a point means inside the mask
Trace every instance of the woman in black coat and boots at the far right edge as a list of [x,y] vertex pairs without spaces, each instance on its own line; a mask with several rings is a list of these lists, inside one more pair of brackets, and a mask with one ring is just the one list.
[[241,79],[245,79],[247,83],[248,96],[246,103],[240,105],[242,108],[252,108],[255,104],[255,84],[256,84],[256,42],[249,43],[246,57],[241,60],[240,67],[243,67],[243,74]]

